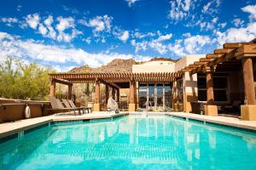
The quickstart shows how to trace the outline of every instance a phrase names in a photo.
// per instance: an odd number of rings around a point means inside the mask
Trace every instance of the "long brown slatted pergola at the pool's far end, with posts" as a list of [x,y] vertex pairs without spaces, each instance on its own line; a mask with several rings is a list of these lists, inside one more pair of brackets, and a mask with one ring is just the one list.
[[174,82],[183,76],[178,72],[155,72],[155,73],[55,73],[49,74],[51,80],[50,96],[55,95],[55,83],[68,86],[68,98],[71,98],[73,83],[95,83],[94,111],[100,111],[100,84],[106,85],[106,99],[111,87],[112,95],[117,92],[119,101],[119,88],[130,88],[129,111],[136,110],[136,82]]

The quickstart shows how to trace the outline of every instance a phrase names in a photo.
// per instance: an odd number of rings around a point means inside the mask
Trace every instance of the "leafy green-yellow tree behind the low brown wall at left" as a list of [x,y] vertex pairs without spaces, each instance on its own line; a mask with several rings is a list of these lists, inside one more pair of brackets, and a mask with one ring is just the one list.
[[9,99],[40,99],[49,94],[50,68],[36,63],[24,64],[8,58],[0,64],[0,96]]

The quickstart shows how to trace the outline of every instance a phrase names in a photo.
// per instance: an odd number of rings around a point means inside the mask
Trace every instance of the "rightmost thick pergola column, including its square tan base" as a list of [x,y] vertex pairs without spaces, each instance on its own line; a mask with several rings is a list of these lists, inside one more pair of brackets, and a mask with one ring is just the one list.
[[245,105],[241,105],[241,119],[248,121],[256,120],[256,102],[255,89],[253,80],[253,60],[251,58],[243,58],[242,73],[245,92]]

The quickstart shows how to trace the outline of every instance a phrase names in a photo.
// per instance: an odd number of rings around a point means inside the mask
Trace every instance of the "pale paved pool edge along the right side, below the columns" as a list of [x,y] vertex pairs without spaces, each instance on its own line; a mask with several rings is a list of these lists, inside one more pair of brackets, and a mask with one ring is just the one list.
[[166,113],[166,115],[185,117],[185,118],[199,120],[203,122],[213,122],[221,125],[227,125],[231,127],[241,127],[241,128],[246,128],[246,129],[256,131],[256,121],[241,121],[239,118],[236,118],[236,117],[205,116],[205,115],[198,115],[198,114],[185,113],[185,112],[171,112],[171,113]]

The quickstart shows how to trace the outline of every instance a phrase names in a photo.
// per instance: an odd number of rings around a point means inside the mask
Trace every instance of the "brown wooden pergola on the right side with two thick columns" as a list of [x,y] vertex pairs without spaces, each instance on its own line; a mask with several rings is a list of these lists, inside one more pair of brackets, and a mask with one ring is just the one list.
[[242,75],[245,92],[245,105],[241,107],[241,118],[256,120],[256,100],[253,80],[253,60],[256,58],[256,38],[251,42],[224,43],[223,48],[214,50],[213,54],[207,54],[206,58],[195,61],[194,64],[184,67],[181,71],[193,75],[205,72],[207,76],[207,115],[218,115],[217,106],[213,104],[212,72],[236,71],[242,67]]

